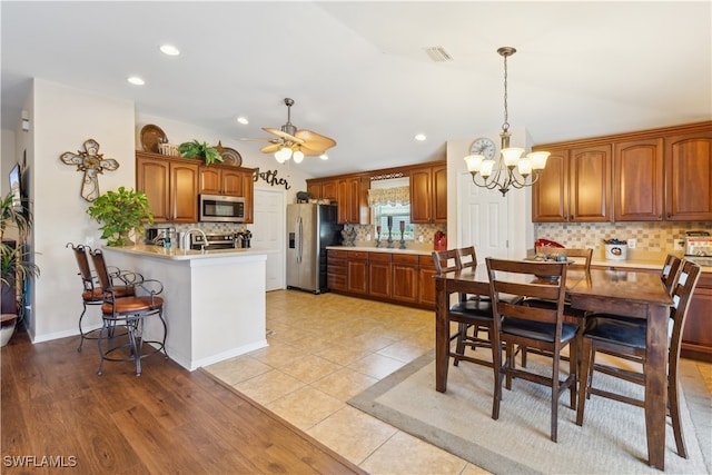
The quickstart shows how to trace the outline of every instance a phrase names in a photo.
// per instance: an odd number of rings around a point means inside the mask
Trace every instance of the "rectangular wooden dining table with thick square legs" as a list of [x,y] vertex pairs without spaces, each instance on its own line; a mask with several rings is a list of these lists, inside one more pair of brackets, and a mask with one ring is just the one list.
[[[434,276],[436,289],[435,388],[447,389],[451,329],[447,310],[452,294],[490,294],[484,264]],[[668,406],[668,323],[672,298],[659,274],[635,270],[591,269],[566,273],[566,297],[574,308],[613,313],[647,321],[647,377],[645,432],[649,465],[665,467],[665,414]]]

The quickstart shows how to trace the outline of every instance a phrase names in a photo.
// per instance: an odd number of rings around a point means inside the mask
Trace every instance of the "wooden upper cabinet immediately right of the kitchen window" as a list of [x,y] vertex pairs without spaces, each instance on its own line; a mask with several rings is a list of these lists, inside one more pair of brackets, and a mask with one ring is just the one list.
[[447,165],[411,169],[411,222],[447,222]]

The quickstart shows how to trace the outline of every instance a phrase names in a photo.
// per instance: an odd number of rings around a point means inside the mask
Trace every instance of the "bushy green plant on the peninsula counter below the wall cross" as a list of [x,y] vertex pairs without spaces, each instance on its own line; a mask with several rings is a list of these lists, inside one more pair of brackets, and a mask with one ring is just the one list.
[[142,191],[119,187],[117,191],[107,191],[91,202],[87,209],[100,226],[101,238],[108,246],[131,244],[129,232],[142,236],[144,224],[154,224],[154,214],[148,207],[148,197]]

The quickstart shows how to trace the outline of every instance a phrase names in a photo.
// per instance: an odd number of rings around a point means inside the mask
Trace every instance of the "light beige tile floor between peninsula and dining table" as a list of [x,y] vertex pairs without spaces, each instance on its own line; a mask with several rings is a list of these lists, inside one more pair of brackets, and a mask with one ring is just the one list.
[[270,291],[269,346],[206,369],[372,474],[486,474],[346,404],[431,350],[433,318],[335,294]]

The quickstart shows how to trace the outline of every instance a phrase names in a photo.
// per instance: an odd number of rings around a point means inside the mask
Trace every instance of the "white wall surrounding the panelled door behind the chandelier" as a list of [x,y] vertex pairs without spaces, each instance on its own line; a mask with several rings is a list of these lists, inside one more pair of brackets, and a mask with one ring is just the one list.
[[[531,138],[525,129],[511,129],[511,144],[513,147],[531,149]],[[448,140],[446,145],[447,156],[447,246],[451,248],[459,246],[457,240],[457,221],[459,211],[457,209],[459,190],[458,177],[467,172],[464,158],[469,155],[472,142],[479,137],[487,137],[495,144],[501,142],[500,132],[485,132],[465,139]],[[475,185],[472,185],[475,186]],[[490,192],[500,194],[497,190]],[[505,199],[505,198],[502,198]],[[512,256],[525,256],[526,249],[533,247],[534,227],[532,225],[532,189],[513,189],[507,192],[510,199],[510,232],[508,240]]]

